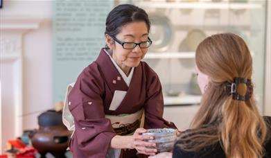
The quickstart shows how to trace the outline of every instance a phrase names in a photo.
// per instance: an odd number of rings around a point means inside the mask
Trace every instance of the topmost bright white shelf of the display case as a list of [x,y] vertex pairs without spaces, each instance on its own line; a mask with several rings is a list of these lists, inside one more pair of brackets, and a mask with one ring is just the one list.
[[229,3],[229,2],[166,2],[140,1],[137,6],[143,8],[175,8],[175,9],[261,9],[259,3]]

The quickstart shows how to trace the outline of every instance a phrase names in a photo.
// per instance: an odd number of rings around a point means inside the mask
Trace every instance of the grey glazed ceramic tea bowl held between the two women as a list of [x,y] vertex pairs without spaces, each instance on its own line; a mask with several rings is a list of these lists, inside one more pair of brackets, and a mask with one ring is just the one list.
[[156,143],[158,152],[167,152],[173,150],[177,130],[173,128],[149,129],[143,135],[152,135],[154,139],[148,142]]

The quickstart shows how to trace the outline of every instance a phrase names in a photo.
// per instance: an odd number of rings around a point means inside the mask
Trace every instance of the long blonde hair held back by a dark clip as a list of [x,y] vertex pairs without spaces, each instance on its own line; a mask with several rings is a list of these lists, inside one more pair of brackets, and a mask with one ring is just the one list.
[[[232,33],[207,37],[199,44],[195,61],[210,81],[191,123],[193,130],[180,134],[180,148],[199,151],[220,142],[226,157],[262,157],[267,128],[254,96],[234,100],[224,87],[234,78],[252,78],[252,56],[243,39]],[[239,84],[238,94],[246,91],[247,86]]]

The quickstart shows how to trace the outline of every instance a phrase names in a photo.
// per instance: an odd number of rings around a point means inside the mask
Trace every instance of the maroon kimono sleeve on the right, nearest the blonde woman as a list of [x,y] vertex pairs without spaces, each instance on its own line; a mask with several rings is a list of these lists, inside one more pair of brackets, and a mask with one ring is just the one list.
[[154,71],[147,73],[147,89],[145,109],[144,128],[176,128],[174,123],[163,119],[164,100],[161,88],[161,82]]

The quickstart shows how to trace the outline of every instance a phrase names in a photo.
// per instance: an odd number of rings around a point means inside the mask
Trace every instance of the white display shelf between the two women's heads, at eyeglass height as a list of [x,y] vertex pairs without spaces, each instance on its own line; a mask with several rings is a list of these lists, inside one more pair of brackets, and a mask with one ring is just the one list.
[[161,59],[161,58],[184,58],[193,59],[195,58],[195,52],[148,52],[145,55],[145,59]]

